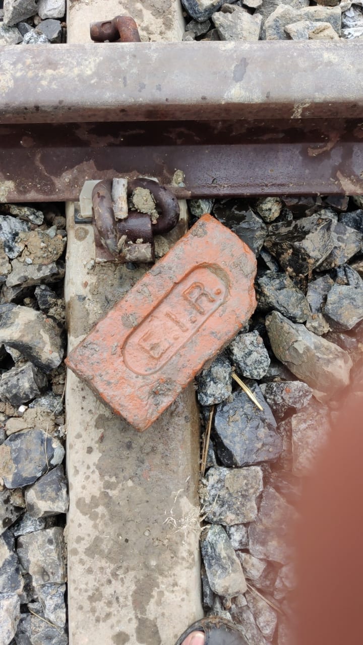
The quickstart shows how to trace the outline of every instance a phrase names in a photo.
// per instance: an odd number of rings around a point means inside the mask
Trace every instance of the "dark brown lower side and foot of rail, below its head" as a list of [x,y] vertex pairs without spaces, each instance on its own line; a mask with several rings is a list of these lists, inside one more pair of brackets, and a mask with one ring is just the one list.
[[[363,194],[362,121],[0,127],[0,200],[77,201],[86,179],[156,177],[176,197]],[[181,185],[174,183],[182,170]],[[1,194],[2,191],[2,194]]]

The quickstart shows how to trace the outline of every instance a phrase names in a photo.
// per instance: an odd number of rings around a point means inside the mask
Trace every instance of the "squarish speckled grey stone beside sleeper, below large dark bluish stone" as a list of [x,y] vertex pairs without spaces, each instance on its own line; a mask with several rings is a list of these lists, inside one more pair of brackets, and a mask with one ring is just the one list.
[[260,466],[209,468],[200,486],[207,522],[231,526],[253,522],[256,499],[264,488]]

